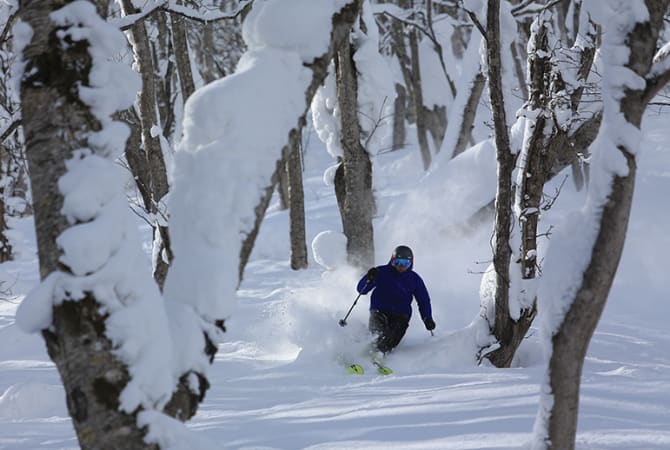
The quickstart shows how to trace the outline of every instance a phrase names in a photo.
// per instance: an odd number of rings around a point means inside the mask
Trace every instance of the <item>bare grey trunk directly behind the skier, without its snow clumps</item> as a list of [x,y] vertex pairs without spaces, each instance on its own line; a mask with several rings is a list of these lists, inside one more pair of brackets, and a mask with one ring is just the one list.
[[369,267],[374,263],[372,213],[372,163],[361,144],[358,122],[358,81],[349,40],[336,56],[337,101],[340,107],[340,144],[344,158],[344,235],[349,263]]

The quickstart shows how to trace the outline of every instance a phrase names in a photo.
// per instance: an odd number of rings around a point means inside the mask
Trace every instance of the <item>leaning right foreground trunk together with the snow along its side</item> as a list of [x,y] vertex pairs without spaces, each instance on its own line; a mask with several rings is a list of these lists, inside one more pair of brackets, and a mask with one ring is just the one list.
[[[591,9],[603,24],[603,123],[591,150],[586,205],[551,247],[540,319],[549,366],[535,424],[535,449],[575,447],[579,386],[588,344],[616,275],[633,198],[639,128],[668,0],[618,0]],[[599,8],[602,8],[600,5]],[[587,7],[587,5],[584,5]],[[604,8],[603,8],[604,9]],[[666,71],[667,73],[667,71]]]

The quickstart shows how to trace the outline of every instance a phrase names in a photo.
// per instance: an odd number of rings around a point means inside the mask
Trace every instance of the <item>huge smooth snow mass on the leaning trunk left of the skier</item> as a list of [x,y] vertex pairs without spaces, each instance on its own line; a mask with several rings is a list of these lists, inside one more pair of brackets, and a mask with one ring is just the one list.
[[[305,123],[335,48],[348,41],[360,3],[256,3],[237,71],[196,90],[186,103],[170,197],[174,262],[165,296],[185,335],[180,373],[207,370],[233,309],[243,242],[282,159],[282,143]],[[302,20],[293,20],[300,15]]]

